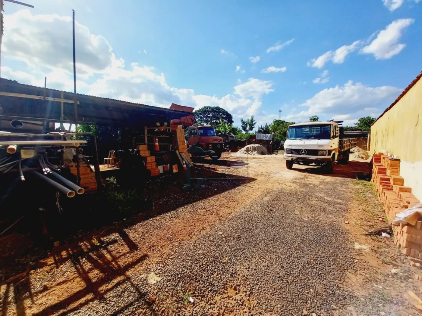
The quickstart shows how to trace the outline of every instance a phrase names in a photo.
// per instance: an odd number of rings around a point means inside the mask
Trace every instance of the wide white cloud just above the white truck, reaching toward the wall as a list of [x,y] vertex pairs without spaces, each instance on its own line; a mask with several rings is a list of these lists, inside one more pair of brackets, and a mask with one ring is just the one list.
[[311,99],[300,104],[301,107],[307,107],[306,110],[289,114],[284,119],[305,121],[312,115],[324,115],[327,119],[343,117],[356,120],[363,116],[381,113],[401,91],[402,89],[392,86],[371,88],[362,83],[348,81],[343,86],[319,91]]

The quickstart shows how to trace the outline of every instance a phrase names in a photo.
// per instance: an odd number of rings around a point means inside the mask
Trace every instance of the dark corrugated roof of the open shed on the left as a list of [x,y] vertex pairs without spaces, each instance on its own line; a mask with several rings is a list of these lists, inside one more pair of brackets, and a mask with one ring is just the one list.
[[[0,118],[36,118],[41,121],[60,122],[60,102],[43,99],[44,97],[73,100],[74,94],[49,88],[25,85],[13,80],[0,79],[0,91],[42,97],[29,99],[0,95]],[[146,104],[108,99],[99,96],[76,94],[78,104],[78,123],[116,124],[121,126],[151,125],[178,119],[190,112],[170,110]],[[64,104],[64,121],[74,122],[73,103]]]

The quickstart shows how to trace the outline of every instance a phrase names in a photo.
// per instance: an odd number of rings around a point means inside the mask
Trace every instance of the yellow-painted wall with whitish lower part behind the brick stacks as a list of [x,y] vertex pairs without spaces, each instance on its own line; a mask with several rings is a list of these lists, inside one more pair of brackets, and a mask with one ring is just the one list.
[[373,124],[370,147],[400,158],[404,185],[422,201],[422,79]]

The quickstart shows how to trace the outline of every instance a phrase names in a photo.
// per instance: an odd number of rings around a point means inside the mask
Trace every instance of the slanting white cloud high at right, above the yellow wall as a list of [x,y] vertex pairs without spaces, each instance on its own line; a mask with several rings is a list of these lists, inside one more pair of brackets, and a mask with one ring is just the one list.
[[406,44],[398,43],[403,30],[414,22],[414,19],[398,19],[378,33],[377,37],[361,49],[363,54],[373,54],[375,59],[390,59],[405,48]]

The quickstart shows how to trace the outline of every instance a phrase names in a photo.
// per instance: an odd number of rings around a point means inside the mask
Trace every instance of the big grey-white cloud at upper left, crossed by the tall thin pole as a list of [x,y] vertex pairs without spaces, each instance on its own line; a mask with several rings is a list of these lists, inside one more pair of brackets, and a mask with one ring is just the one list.
[[[4,16],[2,57],[17,59],[31,68],[64,70],[73,73],[72,18],[70,16],[32,15],[21,10]],[[110,67],[122,67],[108,41],[76,22],[76,72],[88,78]]]

